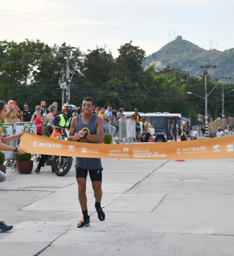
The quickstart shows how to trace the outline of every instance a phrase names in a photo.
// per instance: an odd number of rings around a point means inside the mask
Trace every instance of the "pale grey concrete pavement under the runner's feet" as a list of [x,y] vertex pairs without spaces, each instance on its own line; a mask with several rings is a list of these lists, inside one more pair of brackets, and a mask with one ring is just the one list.
[[85,229],[74,168],[65,177],[7,169],[1,219],[14,229],[0,233],[1,255],[234,255],[234,160],[102,162],[106,220],[88,179]]

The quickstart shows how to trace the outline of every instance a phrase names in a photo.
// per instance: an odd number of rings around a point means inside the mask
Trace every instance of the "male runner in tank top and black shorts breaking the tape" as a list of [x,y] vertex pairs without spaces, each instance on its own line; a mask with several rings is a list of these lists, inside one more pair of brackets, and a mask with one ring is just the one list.
[[[102,143],[104,132],[102,118],[93,114],[95,108],[94,99],[87,97],[83,99],[82,115],[74,116],[69,130],[68,140],[81,143]],[[104,221],[105,213],[102,211],[102,163],[101,158],[76,158],[76,180],[78,183],[78,197],[83,213],[83,221],[77,227],[87,227],[90,225],[88,216],[86,180],[89,172],[95,197],[95,208],[100,221]]]

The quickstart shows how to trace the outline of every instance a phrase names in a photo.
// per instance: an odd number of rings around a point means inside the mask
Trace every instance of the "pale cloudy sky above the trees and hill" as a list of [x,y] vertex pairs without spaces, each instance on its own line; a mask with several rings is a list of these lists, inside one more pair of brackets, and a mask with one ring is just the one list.
[[0,41],[26,38],[87,50],[132,41],[150,55],[177,35],[200,48],[234,48],[230,0],[2,0]]

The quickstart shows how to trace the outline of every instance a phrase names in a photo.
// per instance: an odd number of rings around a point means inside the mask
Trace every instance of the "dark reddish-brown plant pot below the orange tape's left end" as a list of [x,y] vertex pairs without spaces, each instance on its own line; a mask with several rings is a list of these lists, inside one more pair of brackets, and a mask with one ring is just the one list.
[[19,174],[30,174],[34,167],[34,160],[31,160],[32,154],[25,153],[22,155],[16,154],[16,166]]

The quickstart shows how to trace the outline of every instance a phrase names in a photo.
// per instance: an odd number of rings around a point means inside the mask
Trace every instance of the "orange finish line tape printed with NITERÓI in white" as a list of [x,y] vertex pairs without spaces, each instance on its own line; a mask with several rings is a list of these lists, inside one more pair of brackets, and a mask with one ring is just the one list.
[[200,160],[232,159],[234,136],[172,143],[94,144],[24,133],[19,147],[29,153],[68,157]]

